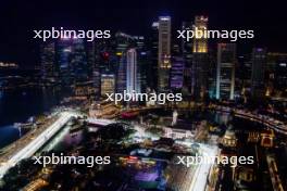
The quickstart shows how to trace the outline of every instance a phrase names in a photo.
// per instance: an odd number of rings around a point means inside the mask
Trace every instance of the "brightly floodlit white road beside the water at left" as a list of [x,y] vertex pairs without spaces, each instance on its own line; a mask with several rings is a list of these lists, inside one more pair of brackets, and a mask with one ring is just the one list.
[[20,161],[33,156],[48,140],[51,139],[73,116],[77,116],[72,112],[62,112],[60,117],[48,128],[46,128],[38,137],[33,139],[27,145],[17,151],[7,162],[0,166],[0,178]]

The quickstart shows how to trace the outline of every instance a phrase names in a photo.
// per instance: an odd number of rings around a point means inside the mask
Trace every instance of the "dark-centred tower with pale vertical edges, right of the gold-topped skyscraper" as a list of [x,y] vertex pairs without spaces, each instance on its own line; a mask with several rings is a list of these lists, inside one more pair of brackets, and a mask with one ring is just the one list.
[[216,99],[234,100],[236,44],[217,44]]

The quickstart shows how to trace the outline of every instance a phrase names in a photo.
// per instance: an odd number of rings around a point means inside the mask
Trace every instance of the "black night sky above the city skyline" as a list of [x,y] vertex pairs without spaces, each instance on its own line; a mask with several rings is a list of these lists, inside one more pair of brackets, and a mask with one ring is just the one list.
[[[287,8],[284,1],[217,0],[93,0],[0,2],[0,61],[36,63],[34,29],[63,26],[68,29],[111,29],[147,35],[160,15],[172,17],[173,30],[195,15],[209,16],[209,29],[253,29],[255,39],[240,40],[241,51],[252,46],[287,52]],[[246,49],[245,50],[245,44]]]

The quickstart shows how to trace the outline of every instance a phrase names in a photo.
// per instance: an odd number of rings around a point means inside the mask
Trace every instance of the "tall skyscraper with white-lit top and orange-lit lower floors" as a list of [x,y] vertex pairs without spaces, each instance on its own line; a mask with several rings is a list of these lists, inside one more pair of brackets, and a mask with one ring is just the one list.
[[169,88],[171,68],[171,17],[159,17],[158,89]]

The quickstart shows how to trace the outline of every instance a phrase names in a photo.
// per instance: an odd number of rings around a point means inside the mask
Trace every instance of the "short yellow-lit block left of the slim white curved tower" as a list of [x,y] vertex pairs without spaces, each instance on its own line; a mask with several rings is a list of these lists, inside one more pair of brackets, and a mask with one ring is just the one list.
[[107,97],[107,93],[114,93],[115,77],[113,74],[101,74],[101,96]]

